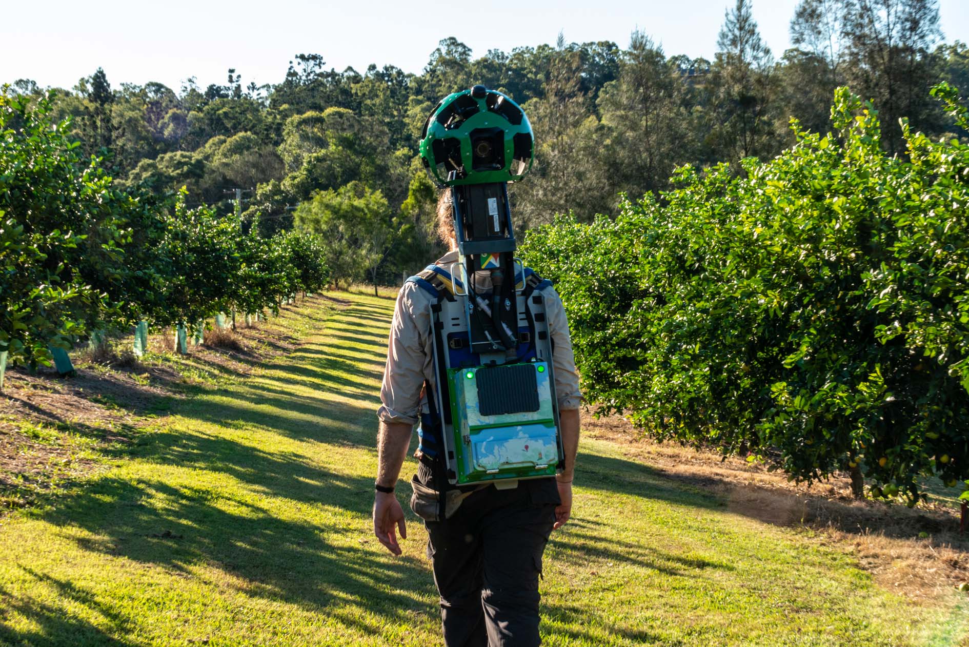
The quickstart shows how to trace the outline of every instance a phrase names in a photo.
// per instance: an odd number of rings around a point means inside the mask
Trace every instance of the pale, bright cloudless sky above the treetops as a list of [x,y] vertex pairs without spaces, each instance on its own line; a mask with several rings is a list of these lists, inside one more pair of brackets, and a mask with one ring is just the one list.
[[[466,7],[462,7],[466,5]],[[319,53],[327,67],[359,72],[376,63],[419,74],[438,41],[454,36],[473,49],[510,51],[567,42],[629,45],[634,29],[668,55],[712,58],[732,0],[559,0],[558,2],[394,2],[392,0],[49,0],[0,2],[0,82],[32,79],[72,87],[98,67],[113,87],[165,83],[175,91],[225,83],[282,81],[297,53]],[[6,5],[6,6],[4,6]],[[790,47],[797,0],[754,0],[753,14],[776,56]],[[448,7],[438,11],[437,7]],[[505,12],[498,7],[509,8]],[[514,7],[514,10],[511,8]],[[939,0],[947,42],[969,42],[969,0]]]

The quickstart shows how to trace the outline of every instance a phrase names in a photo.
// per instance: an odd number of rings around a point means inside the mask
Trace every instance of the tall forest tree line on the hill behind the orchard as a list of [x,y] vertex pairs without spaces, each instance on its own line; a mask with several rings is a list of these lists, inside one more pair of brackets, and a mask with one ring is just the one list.
[[[673,169],[766,160],[792,146],[790,119],[825,133],[834,89],[879,108],[883,147],[905,155],[898,125],[964,137],[929,88],[969,87],[969,47],[949,44],[934,0],[801,0],[794,47],[767,48],[749,0],[729,9],[713,60],[668,55],[641,31],[610,41],[490,49],[473,57],[442,40],[419,75],[393,65],[362,73],[298,54],[285,79],[257,85],[230,69],[225,84],[194,79],[112,86],[99,68],[58,88],[52,113],[120,189],[187,189],[188,205],[239,206],[265,236],[293,227],[329,242],[337,279],[397,282],[440,251],[436,187],[417,157],[423,120],[450,92],[484,83],[521,104],[535,130],[530,178],[513,186],[516,222],[531,228],[572,212],[613,213],[620,194],[668,190]],[[49,88],[47,88],[49,89]],[[8,92],[40,97],[36,81]]]

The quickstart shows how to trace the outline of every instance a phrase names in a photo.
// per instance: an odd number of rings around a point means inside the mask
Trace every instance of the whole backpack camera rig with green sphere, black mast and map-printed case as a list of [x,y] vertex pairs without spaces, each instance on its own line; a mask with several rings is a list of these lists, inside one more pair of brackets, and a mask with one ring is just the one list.
[[483,85],[442,100],[422,132],[423,164],[449,186],[458,253],[422,273],[447,288],[431,306],[438,388],[428,404],[441,412],[453,485],[515,487],[564,467],[547,281],[515,258],[508,200],[533,148],[525,113]]

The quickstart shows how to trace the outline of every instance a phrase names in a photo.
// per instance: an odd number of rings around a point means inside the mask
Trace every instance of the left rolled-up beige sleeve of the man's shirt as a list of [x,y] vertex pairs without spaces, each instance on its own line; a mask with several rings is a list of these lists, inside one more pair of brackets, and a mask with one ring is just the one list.
[[416,290],[420,288],[407,283],[397,294],[377,409],[384,422],[415,425],[420,416],[423,369],[428,361],[422,330],[429,330],[429,312],[422,307],[424,300],[415,298]]

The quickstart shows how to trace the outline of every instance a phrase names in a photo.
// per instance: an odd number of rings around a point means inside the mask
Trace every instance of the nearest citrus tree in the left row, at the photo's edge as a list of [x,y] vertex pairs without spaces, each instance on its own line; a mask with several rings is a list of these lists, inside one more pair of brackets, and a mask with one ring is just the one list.
[[[50,346],[69,347],[102,316],[113,276],[95,283],[80,268],[116,259],[124,237],[111,178],[50,110],[49,96],[0,93],[0,351],[30,366],[49,365]],[[92,232],[97,255],[86,257]]]

